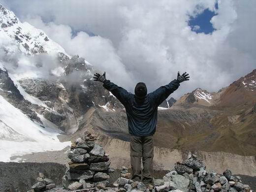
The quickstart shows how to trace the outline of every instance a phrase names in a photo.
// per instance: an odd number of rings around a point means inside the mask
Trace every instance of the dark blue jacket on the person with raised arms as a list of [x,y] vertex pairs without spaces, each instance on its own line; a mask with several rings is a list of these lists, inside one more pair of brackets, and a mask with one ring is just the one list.
[[103,87],[110,91],[125,106],[129,133],[134,136],[149,136],[156,132],[158,106],[173,93],[180,84],[176,79],[156,91],[149,93],[139,103],[136,96],[124,88],[106,80]]

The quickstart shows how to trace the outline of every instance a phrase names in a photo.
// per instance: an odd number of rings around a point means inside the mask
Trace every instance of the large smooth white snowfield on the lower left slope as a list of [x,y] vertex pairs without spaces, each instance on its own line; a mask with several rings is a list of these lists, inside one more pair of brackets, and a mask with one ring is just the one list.
[[[15,121],[14,121],[15,118]],[[70,142],[60,142],[60,130],[33,122],[0,96],[0,161],[15,155],[62,150]]]

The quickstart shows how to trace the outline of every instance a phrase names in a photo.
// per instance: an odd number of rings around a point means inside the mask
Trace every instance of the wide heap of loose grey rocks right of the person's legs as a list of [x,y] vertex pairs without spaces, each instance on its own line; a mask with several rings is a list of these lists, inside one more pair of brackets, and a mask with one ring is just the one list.
[[252,192],[248,185],[241,182],[239,176],[232,176],[230,170],[223,175],[205,170],[202,161],[195,155],[182,163],[177,162],[173,170],[163,179],[154,180],[155,191],[164,192]]

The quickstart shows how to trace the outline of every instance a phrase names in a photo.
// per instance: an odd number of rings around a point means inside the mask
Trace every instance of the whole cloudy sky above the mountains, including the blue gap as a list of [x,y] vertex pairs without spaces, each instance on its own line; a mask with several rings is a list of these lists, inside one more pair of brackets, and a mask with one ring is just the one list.
[[133,92],[153,91],[187,71],[197,87],[218,91],[256,68],[256,0],[0,0]]

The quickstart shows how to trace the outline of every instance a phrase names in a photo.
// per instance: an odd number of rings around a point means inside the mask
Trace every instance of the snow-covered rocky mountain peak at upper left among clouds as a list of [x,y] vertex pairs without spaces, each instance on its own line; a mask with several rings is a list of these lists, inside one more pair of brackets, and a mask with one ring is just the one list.
[[[65,50],[56,42],[51,40],[45,32],[36,29],[27,22],[22,23],[15,14],[0,4],[0,33],[10,42],[10,46],[5,47],[8,53],[21,51],[25,54],[60,54]],[[16,47],[11,46],[16,45]],[[67,56],[69,57],[69,56]]]

